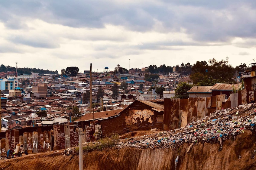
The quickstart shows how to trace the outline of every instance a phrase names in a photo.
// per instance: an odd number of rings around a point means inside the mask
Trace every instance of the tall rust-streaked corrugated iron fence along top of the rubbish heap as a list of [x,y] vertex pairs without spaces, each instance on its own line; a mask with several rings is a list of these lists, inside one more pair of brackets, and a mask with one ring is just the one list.
[[212,97],[195,97],[189,99],[165,98],[164,99],[164,130],[181,128],[193,121],[198,121],[208,116],[215,110],[238,106],[238,101],[243,101],[245,94],[230,94],[225,101],[225,94]]

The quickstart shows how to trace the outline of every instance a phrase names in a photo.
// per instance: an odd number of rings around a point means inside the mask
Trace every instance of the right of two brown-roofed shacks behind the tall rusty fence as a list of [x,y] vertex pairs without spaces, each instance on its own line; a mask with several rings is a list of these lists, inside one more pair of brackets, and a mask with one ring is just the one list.
[[235,89],[238,89],[239,84],[216,83],[212,86],[212,88],[210,88],[210,90],[212,91],[212,96],[225,94],[225,99],[228,99],[230,94],[233,93],[233,85]]

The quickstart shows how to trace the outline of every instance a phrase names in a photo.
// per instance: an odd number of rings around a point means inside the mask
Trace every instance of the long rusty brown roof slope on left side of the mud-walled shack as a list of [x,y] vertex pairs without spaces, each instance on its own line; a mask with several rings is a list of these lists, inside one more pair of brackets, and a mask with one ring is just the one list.
[[[126,107],[125,107],[126,108]],[[106,110],[102,112],[94,112],[94,120],[99,120],[99,119],[106,119],[114,116],[118,116],[120,112],[122,112],[125,108],[123,109],[114,109],[114,110]],[[86,113],[81,117],[81,119],[77,119],[74,122],[80,122],[80,121],[90,121],[93,120],[93,113]]]

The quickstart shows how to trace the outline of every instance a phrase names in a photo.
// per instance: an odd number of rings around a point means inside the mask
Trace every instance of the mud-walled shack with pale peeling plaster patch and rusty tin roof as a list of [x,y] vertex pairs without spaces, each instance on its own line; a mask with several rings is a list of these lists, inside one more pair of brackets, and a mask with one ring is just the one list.
[[[124,134],[135,130],[163,130],[164,106],[150,101],[135,100],[124,109],[115,109],[94,113],[95,123],[102,128],[102,135]],[[85,126],[93,123],[93,113],[87,113],[74,123]],[[80,127],[80,126],[79,126]]]

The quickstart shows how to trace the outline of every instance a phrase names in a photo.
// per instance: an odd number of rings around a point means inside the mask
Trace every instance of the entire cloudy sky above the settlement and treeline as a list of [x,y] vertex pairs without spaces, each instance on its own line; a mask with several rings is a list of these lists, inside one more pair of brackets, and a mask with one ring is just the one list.
[[255,0],[1,1],[0,63],[59,73],[227,56],[234,67],[248,65],[256,59],[255,8]]

